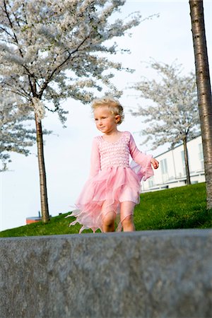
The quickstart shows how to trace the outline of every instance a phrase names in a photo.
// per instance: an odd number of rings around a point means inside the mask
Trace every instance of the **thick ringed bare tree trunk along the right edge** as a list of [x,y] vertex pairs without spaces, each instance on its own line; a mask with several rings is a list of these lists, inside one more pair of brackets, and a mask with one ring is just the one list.
[[212,100],[202,0],[190,0],[196,84],[204,150],[207,208],[212,208]]

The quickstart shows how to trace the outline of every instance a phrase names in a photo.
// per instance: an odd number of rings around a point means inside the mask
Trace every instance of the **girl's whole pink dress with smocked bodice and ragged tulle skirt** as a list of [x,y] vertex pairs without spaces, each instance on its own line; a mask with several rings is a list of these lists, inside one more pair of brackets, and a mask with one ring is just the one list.
[[[129,155],[134,160],[131,165]],[[76,217],[70,225],[83,225],[80,232],[88,228],[93,232],[98,228],[102,231],[104,202],[107,203],[106,211],[114,211],[117,214],[119,204],[123,201],[139,204],[141,179],[146,180],[153,175],[151,158],[151,155],[139,151],[129,131],[122,132],[119,140],[114,143],[105,141],[102,136],[95,137],[91,152],[90,176],[76,201],[78,210],[70,215]],[[120,222],[117,230],[121,229]]]

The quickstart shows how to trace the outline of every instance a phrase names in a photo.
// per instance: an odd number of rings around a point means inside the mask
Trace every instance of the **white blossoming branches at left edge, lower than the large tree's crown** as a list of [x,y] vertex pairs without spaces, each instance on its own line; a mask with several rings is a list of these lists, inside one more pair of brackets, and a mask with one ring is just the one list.
[[23,122],[31,119],[32,116],[25,107],[20,106],[16,95],[0,96],[0,172],[6,170],[11,151],[23,155],[30,153],[28,147],[33,146],[36,140],[35,129],[30,129]]

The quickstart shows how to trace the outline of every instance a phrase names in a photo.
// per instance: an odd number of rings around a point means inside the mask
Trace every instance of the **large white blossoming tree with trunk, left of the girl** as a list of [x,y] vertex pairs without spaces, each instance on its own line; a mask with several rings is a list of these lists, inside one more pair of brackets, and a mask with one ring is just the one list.
[[[57,112],[61,100],[90,102],[102,86],[115,92],[108,59],[117,52],[114,37],[139,24],[139,16],[110,22],[122,0],[0,0],[0,89],[15,93],[35,112],[42,220],[49,220],[42,118]],[[107,42],[106,42],[107,41]],[[116,92],[118,95],[119,92]]]

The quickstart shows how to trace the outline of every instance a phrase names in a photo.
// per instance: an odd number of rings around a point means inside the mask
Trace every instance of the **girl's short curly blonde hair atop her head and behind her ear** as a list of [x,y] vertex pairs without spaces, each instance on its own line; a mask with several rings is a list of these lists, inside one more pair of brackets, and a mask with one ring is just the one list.
[[107,106],[108,110],[111,112],[111,114],[113,114],[114,116],[119,115],[120,116],[120,120],[117,123],[122,124],[123,120],[124,120],[124,110],[122,105],[120,104],[120,102],[114,98],[111,98],[110,96],[106,96],[105,98],[100,98],[97,100],[93,100],[91,107],[93,109],[93,111],[101,106]]

